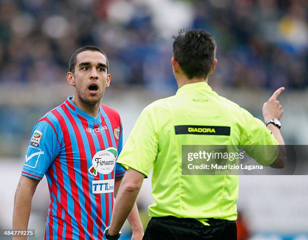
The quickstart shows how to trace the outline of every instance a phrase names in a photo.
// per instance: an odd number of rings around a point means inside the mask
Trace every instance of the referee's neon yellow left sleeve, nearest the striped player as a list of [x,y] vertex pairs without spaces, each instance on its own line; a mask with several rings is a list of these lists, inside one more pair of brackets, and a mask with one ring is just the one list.
[[132,168],[148,177],[158,153],[158,134],[155,118],[146,107],[137,119],[118,163],[125,169]]

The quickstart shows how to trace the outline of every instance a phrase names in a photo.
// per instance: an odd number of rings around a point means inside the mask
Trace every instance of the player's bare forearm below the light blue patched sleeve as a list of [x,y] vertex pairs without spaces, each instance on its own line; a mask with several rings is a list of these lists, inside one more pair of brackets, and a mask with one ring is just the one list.
[[[31,202],[40,181],[21,176],[14,199],[14,212],[13,212],[13,229],[26,230],[31,211]],[[13,237],[13,239],[27,239],[26,236]]]

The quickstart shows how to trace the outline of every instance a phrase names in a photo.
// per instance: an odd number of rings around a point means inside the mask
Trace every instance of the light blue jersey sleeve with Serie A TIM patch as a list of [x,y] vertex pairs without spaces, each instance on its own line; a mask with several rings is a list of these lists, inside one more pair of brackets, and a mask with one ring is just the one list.
[[22,175],[41,180],[60,152],[55,130],[47,121],[34,125],[28,144]]

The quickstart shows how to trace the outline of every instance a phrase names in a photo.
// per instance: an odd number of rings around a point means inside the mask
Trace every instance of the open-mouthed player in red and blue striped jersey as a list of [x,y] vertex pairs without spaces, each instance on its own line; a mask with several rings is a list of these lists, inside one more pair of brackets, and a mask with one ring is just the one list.
[[[50,201],[45,239],[104,238],[126,172],[116,163],[122,150],[120,115],[101,104],[111,81],[108,68],[98,47],[72,54],[66,78],[74,94],[34,125],[15,193],[14,229],[27,229],[33,194],[46,175]],[[136,205],[128,221],[132,239],[141,239]]]

